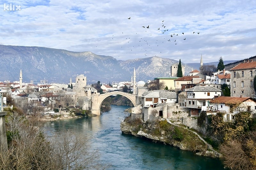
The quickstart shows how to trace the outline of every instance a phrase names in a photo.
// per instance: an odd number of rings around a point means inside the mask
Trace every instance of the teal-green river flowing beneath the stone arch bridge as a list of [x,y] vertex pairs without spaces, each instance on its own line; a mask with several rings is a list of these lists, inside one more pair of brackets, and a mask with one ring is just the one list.
[[100,150],[100,159],[115,170],[210,170],[224,169],[219,159],[197,156],[170,145],[122,134],[120,120],[125,106],[112,109],[100,116],[58,120],[45,123],[47,133],[71,129],[92,136],[93,147]]

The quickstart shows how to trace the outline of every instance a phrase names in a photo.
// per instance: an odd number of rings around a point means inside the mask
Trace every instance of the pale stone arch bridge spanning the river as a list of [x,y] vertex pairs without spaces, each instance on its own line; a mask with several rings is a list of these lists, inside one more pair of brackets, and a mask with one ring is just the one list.
[[119,94],[122,95],[126,98],[128,98],[129,100],[131,100],[133,106],[137,106],[137,98],[138,96],[134,95],[134,94],[130,94],[130,93],[125,93],[125,92],[120,92],[120,91],[115,91],[115,92],[108,92],[105,94],[99,94],[99,95],[93,95],[92,98],[92,114],[94,115],[100,115],[100,106],[102,104],[102,102],[109,96],[114,95],[114,94]]

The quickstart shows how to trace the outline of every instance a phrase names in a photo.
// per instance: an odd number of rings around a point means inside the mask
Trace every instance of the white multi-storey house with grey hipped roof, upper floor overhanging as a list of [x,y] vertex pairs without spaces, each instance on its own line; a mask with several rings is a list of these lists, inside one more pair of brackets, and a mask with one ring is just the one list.
[[191,115],[199,115],[206,111],[208,101],[221,96],[221,90],[211,86],[195,86],[186,91],[186,104],[190,108]]

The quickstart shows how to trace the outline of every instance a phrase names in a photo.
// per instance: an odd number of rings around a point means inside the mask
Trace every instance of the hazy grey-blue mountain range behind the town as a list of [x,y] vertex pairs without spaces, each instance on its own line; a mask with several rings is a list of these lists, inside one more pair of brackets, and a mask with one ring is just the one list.
[[[182,61],[182,58],[181,58]],[[0,45],[2,71],[0,81],[19,81],[22,70],[23,82],[47,80],[48,83],[69,83],[77,75],[84,74],[87,84],[97,81],[112,83],[131,81],[136,70],[136,81],[169,77],[172,64],[179,61],[152,56],[133,60],[116,60],[112,56],[97,55],[92,52],[73,52],[64,49]],[[234,61],[226,61],[232,63]],[[214,64],[218,62],[204,63]],[[226,64],[224,62],[224,64]],[[182,63],[185,75],[192,69],[199,69],[200,63]]]

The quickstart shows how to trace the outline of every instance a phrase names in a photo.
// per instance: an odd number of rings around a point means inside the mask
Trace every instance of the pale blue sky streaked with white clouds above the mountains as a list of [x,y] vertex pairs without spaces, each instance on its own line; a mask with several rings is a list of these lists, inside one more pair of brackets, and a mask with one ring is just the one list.
[[0,0],[0,6],[2,45],[182,63],[256,55],[252,0]]

